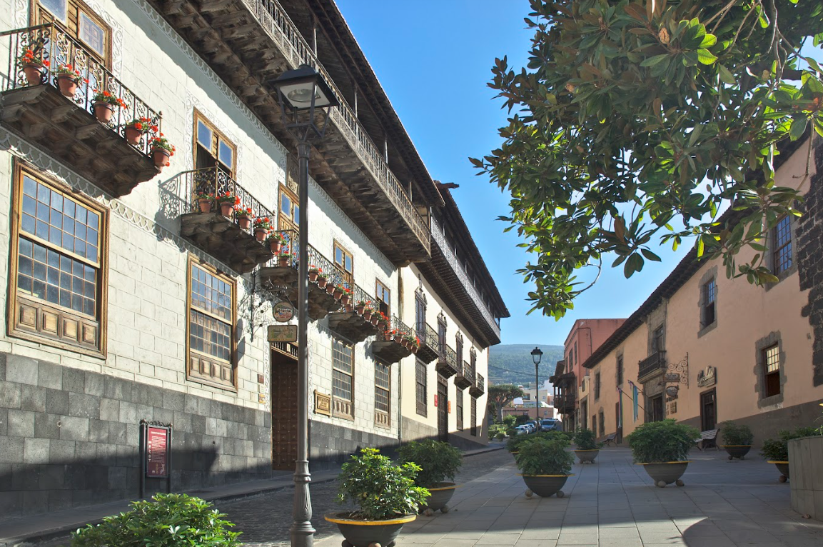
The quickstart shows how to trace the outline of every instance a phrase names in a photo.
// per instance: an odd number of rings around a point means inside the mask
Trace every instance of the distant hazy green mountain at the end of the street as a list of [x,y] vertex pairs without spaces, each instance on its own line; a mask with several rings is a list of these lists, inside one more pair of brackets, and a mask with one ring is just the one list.
[[532,349],[537,346],[543,352],[540,361],[540,383],[555,373],[558,361],[563,358],[563,346],[542,344],[499,344],[489,348],[489,381],[491,384],[534,383]]

